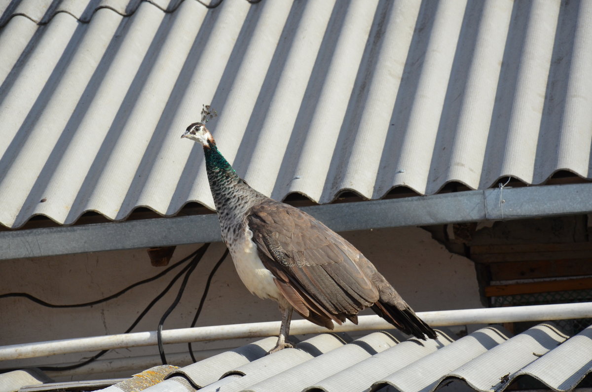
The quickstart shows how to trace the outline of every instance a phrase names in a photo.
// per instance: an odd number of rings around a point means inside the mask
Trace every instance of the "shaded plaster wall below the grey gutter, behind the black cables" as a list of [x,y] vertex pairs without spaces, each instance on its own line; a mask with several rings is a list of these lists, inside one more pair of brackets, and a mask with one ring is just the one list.
[[[472,309],[482,307],[475,277],[474,264],[468,259],[449,253],[432,239],[430,234],[416,227],[365,230],[343,233],[355,244],[394,285],[416,311]],[[198,248],[198,245],[179,246],[170,262],[173,264]],[[191,275],[181,303],[165,323],[165,329],[188,327],[194,317],[204,285],[215,262],[223,254],[224,246],[210,246],[204,259]],[[179,267],[180,268],[180,267]],[[134,288],[119,298],[104,304],[79,309],[48,309],[24,298],[0,299],[2,317],[0,345],[100,336],[124,332],[139,313],[165,288],[175,271],[157,281]],[[81,255],[54,256],[36,259],[2,261],[0,287],[2,293],[25,292],[53,304],[81,303],[107,297],[133,282],[152,277],[163,267],[153,267],[143,250],[97,252]],[[160,300],[133,332],[156,330],[157,323],[172,303],[179,282]],[[367,312],[366,312],[367,313]],[[364,314],[366,314],[364,313]],[[368,313],[372,314],[372,313]],[[296,317],[300,318],[300,317]],[[280,313],[274,302],[260,300],[249,294],[234,271],[228,258],[214,276],[210,293],[197,326],[275,321]],[[468,326],[469,332],[475,326]],[[236,347],[244,339],[194,343],[198,358],[215,350]],[[169,363],[189,363],[187,346],[165,345]],[[179,355],[175,355],[179,353]],[[3,361],[2,368],[28,365],[79,362],[95,353],[56,355],[37,359]],[[160,363],[156,346],[117,349],[88,367],[65,374],[75,380],[106,377],[129,377],[134,372]],[[131,368],[111,359],[152,356],[131,359]],[[136,364],[136,365],[134,365]],[[136,366],[136,367],[134,367]],[[100,374],[80,375],[89,368],[101,368]],[[59,380],[70,376],[48,373]]]

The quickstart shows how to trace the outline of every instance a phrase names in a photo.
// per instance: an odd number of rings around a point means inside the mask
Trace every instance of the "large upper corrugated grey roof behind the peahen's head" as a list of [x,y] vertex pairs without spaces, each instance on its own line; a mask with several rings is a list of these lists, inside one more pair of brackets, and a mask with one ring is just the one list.
[[280,200],[592,178],[588,1],[27,0],[0,11],[8,227],[213,208],[201,149],[179,139],[207,103],[226,158]]

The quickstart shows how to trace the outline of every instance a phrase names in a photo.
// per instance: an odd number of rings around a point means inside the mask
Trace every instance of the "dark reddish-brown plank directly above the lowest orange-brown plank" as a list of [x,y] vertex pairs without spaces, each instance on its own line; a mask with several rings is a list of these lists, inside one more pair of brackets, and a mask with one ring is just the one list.
[[493,281],[578,277],[592,275],[592,258],[493,263],[488,268]]

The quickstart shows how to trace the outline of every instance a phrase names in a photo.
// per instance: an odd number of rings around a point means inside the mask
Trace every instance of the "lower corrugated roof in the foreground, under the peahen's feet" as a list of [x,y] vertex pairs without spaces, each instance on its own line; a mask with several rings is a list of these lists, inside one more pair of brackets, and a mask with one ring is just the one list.
[[[442,330],[438,335],[437,340],[400,342],[389,333],[374,332],[348,343],[331,334],[316,335],[294,349],[271,355],[259,352],[244,359],[243,364],[226,361],[223,354],[214,356],[171,372],[167,380],[146,391],[332,392],[386,388],[427,392],[451,384],[449,390],[500,392],[514,384],[568,391],[592,372],[592,326],[571,338],[548,323],[516,336],[496,326],[464,338]],[[259,346],[270,349],[273,339],[261,340]],[[210,383],[205,384],[204,377]]]

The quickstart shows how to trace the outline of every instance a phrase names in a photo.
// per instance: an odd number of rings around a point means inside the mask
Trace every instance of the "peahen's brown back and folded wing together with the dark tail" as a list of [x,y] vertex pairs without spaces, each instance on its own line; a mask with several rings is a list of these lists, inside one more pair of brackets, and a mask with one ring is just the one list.
[[260,259],[305,319],[333,329],[372,309],[403,332],[435,338],[400,295],[349,242],[303,211],[270,200],[247,217]]

